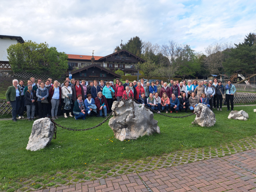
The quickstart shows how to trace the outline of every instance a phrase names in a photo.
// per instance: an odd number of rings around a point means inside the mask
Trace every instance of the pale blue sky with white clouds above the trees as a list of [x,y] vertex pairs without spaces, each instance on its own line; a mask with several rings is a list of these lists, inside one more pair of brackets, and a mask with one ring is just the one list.
[[46,42],[67,54],[106,56],[138,36],[197,52],[256,30],[255,0],[1,0],[0,35]]

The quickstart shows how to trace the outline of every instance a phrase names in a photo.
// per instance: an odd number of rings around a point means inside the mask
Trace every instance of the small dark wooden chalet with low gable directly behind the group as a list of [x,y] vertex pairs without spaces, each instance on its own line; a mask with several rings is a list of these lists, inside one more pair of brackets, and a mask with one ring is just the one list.
[[[115,78],[121,77],[113,71],[110,71],[97,64],[88,65],[81,69],[71,71],[70,74],[72,74],[73,79],[78,79],[80,82],[82,80],[85,80],[86,85],[88,85],[89,82],[93,80],[97,80],[98,83],[100,82],[100,80],[103,80],[104,82],[109,82],[114,81]],[[69,73],[66,73],[66,76],[68,77]]]

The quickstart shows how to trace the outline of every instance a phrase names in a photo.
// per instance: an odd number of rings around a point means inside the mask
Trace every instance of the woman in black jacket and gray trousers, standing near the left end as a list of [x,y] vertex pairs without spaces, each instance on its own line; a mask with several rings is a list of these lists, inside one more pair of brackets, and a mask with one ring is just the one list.
[[35,116],[35,103],[37,101],[36,91],[32,89],[32,85],[28,85],[28,90],[24,93],[24,100],[27,107],[27,119],[31,121]]

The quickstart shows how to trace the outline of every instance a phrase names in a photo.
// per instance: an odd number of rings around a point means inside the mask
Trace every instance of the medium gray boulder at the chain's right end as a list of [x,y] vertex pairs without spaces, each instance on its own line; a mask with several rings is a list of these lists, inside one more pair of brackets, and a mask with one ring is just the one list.
[[215,125],[215,114],[206,105],[199,103],[195,107],[194,112],[197,112],[197,115],[192,124],[197,124],[202,127],[211,127]]

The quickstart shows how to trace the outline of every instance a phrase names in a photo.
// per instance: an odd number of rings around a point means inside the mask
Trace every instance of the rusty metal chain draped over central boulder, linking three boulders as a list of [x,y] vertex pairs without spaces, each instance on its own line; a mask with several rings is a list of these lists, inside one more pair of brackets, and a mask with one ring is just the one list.
[[[127,96],[127,95],[124,95],[124,96]],[[71,128],[67,128],[67,127],[64,127],[64,126],[61,126],[61,125],[59,125],[59,124],[57,124],[53,119],[51,119],[51,122],[53,123],[53,126],[54,126],[54,137],[53,137],[53,139],[56,139],[57,138],[57,136],[56,136],[56,133],[57,133],[57,126],[58,127],[61,127],[62,129],[67,129],[67,130],[69,130],[69,131],[87,131],[87,130],[91,130],[91,129],[94,129],[94,128],[96,128],[96,127],[99,127],[99,126],[101,126],[103,123],[106,123],[106,121],[110,118],[110,116],[112,115],[112,113],[115,111],[115,109],[117,108],[117,106],[119,105],[119,103],[120,103],[120,101],[123,101],[124,102],[124,106],[125,106],[125,101],[129,101],[129,100],[132,100],[132,101],[134,101],[135,103],[138,103],[138,104],[141,104],[141,103],[139,103],[138,101],[136,101],[133,97],[132,97],[132,95],[130,96],[130,97],[127,97],[127,99],[125,99],[125,97],[123,97],[123,98],[121,98],[117,103],[116,103],[116,106],[115,106],[115,108],[112,110],[112,112],[110,112],[110,114],[109,114],[109,116],[107,116],[106,117],[106,119],[104,119],[101,123],[99,123],[98,125],[95,125],[94,127],[90,127],[90,128],[87,128],[87,129],[71,129]],[[155,110],[153,110],[153,109],[151,109],[151,108],[149,108],[149,107],[147,107],[147,106],[144,106],[146,109],[149,109],[150,111],[152,111],[152,112],[155,112],[155,113],[157,113],[158,111],[155,111]],[[134,104],[133,104],[133,102],[132,102],[132,112],[133,112],[133,118],[135,118],[135,111],[134,111]],[[195,114],[197,114],[197,112],[194,112],[194,113],[192,113],[192,114],[190,114],[190,115],[186,115],[186,116],[170,116],[170,115],[165,115],[165,114],[162,114],[162,113],[158,113],[159,115],[163,115],[163,116],[165,116],[165,117],[171,117],[171,118],[184,118],[184,117],[189,117],[189,116],[191,116],[191,115],[195,115]]]

